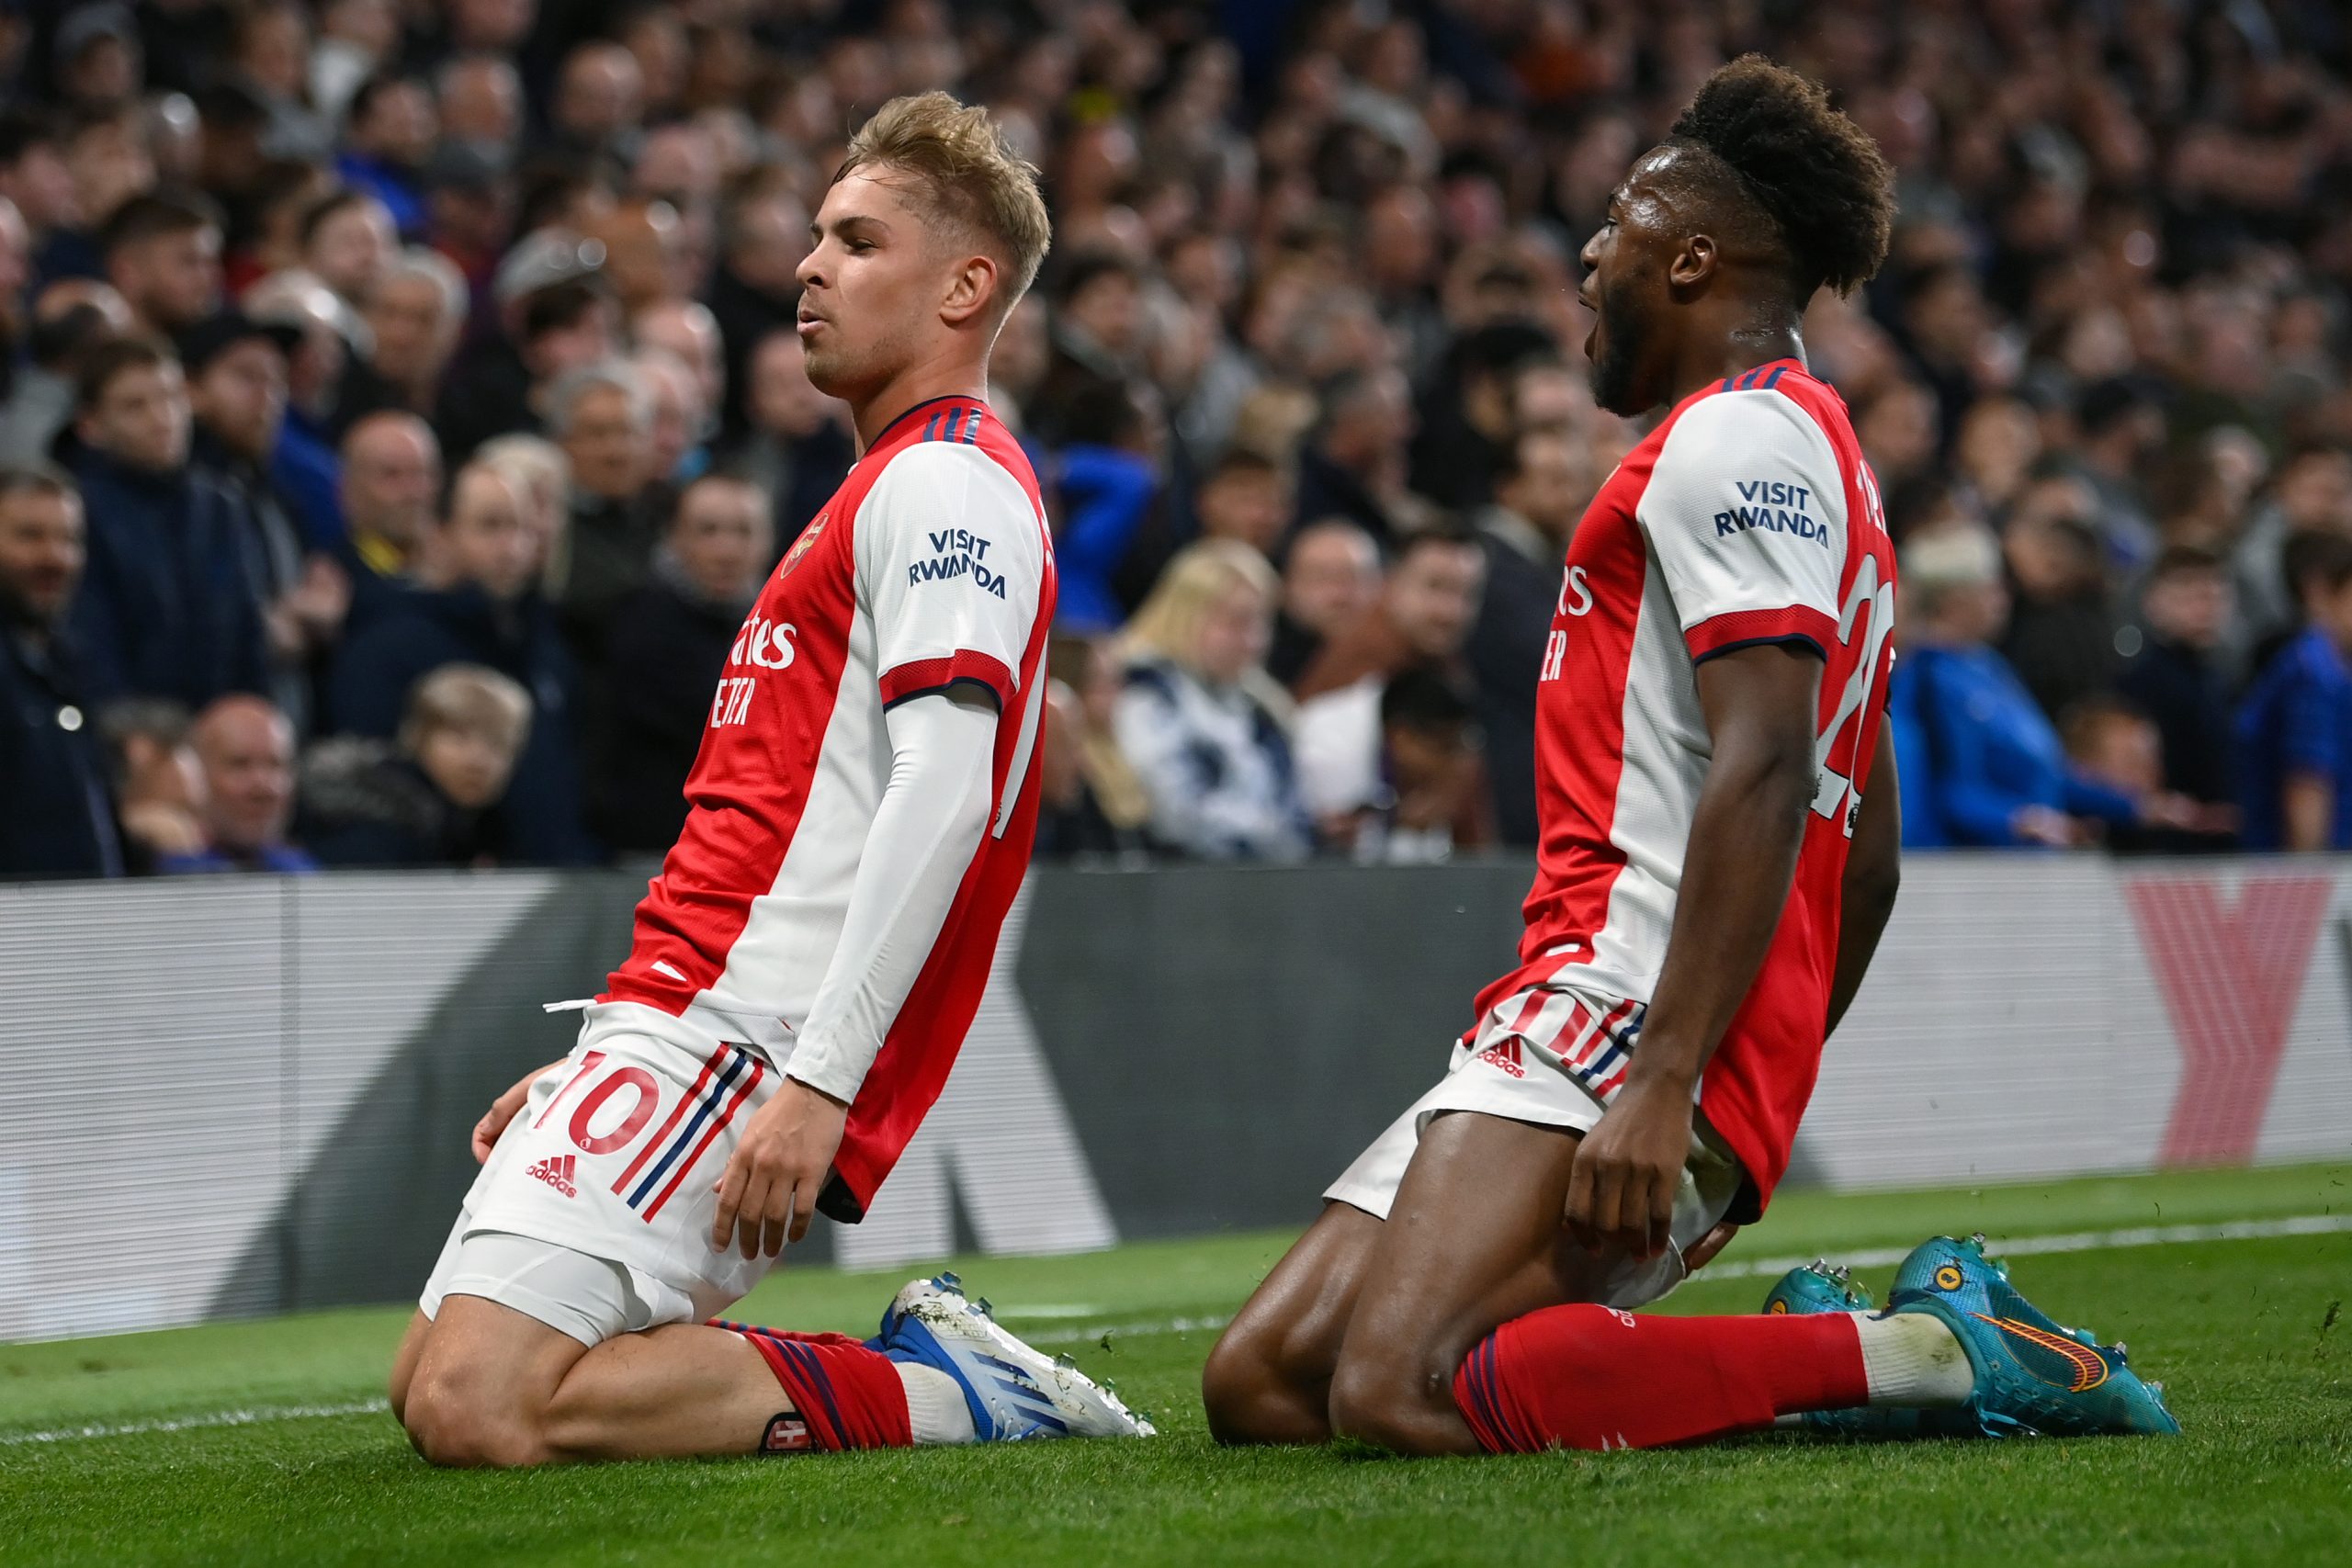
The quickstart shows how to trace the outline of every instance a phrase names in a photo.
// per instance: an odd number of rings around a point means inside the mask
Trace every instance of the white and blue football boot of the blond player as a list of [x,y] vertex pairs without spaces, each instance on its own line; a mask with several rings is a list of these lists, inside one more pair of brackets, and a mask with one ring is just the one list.
[[1047,1356],[1004,1331],[985,1300],[964,1295],[955,1274],[910,1281],[882,1314],[882,1333],[866,1345],[891,1361],[917,1361],[955,1378],[983,1443],[1157,1436],[1148,1418],[1077,1371],[1077,1361]]

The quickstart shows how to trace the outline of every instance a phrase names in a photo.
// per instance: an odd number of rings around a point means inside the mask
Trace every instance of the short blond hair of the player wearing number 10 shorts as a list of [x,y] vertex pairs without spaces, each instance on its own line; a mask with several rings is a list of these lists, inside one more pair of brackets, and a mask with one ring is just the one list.
[[985,108],[924,92],[877,108],[849,139],[833,181],[868,167],[913,176],[931,212],[995,252],[1004,263],[1004,287],[995,299],[995,317],[1002,322],[1037,282],[1037,268],[1054,244],[1054,219],[1037,193],[1037,165],[1014,150],[1004,127]]

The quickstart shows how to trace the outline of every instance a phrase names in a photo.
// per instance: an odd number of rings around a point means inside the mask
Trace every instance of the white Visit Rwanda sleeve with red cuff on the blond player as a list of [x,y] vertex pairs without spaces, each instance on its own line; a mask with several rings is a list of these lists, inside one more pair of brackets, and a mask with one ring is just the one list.
[[882,705],[969,682],[1011,712],[1044,576],[1021,480],[976,444],[915,442],[866,494],[854,543]]

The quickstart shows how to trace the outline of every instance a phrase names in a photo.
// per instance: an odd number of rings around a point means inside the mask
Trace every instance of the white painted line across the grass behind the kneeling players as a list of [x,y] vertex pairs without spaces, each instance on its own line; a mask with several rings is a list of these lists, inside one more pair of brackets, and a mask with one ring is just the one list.
[[[2345,1213],[2303,1213],[2284,1220],[2230,1220],[2220,1225],[2133,1225],[2129,1229],[2077,1229],[2058,1237],[2016,1237],[1999,1241],[1992,1253],[1999,1258],[2034,1258],[2046,1253],[2105,1253],[2122,1251],[2131,1246],[2183,1246],[2192,1241],[2272,1241],[2279,1237],[2336,1237],[2352,1232],[2352,1215]],[[1837,1262],[1858,1269],[1879,1269],[1891,1262],[1903,1262],[1910,1248],[1903,1246],[1875,1246],[1863,1251],[1839,1253]],[[1745,1262],[1719,1262],[1710,1265],[1698,1279],[1764,1279],[1778,1276],[1790,1269],[1804,1267],[1811,1258],[1752,1258]],[[1007,1316],[1021,1316],[1007,1312]],[[1044,1316],[1044,1312],[1033,1312],[1030,1316]],[[1148,1319],[1138,1324],[1087,1324],[1084,1328],[1051,1328],[1047,1333],[1028,1335],[1033,1345],[1087,1345],[1110,1338],[1141,1338],[1160,1333],[1195,1333],[1204,1328],[1223,1328],[1232,1319],[1225,1314],[1211,1316],[1164,1316]],[[259,1427],[263,1422],[278,1420],[322,1420],[332,1415],[372,1415],[376,1410],[388,1410],[390,1403],[383,1399],[355,1399],[339,1406],[261,1406],[252,1410],[212,1410],[207,1415],[179,1415],[172,1420],[129,1420],[113,1425],[89,1425],[89,1427],[52,1427],[47,1432],[0,1432],[0,1448],[21,1443],[73,1443],[80,1439],[106,1439],[106,1436],[143,1436],[151,1432],[198,1432],[205,1427]]]

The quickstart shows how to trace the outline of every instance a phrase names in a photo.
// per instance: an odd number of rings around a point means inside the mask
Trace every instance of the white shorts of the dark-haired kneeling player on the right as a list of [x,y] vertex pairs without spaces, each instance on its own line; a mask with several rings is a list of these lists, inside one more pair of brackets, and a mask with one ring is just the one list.
[[[1324,1199],[1352,1204],[1385,1220],[1432,1117],[1475,1110],[1510,1121],[1590,1133],[1625,1077],[1625,1060],[1642,1032],[1642,1004],[1559,987],[1534,987],[1491,1009],[1479,1027],[1454,1044],[1446,1077],[1397,1117],[1329,1190]],[[1656,1258],[1595,1255],[1578,1300],[1604,1307],[1646,1307],[1684,1281],[1684,1248],[1705,1237],[1731,1208],[1743,1180],[1740,1161],[1691,1112],[1691,1154],[1675,1192],[1668,1248]]]

